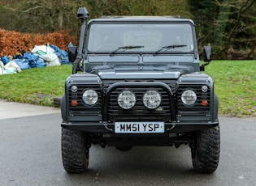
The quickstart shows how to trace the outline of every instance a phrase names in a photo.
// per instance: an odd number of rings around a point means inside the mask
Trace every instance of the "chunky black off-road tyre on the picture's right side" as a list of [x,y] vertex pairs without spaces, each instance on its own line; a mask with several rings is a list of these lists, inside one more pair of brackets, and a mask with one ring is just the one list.
[[206,174],[213,173],[219,164],[219,125],[197,131],[195,140],[190,147],[195,171]]

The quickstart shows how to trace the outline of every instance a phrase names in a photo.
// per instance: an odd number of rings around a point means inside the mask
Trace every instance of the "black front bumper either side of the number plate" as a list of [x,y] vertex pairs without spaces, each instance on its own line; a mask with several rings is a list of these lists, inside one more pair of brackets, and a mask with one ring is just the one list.
[[[164,133],[186,133],[196,130],[206,129],[219,125],[219,121],[214,122],[170,122],[164,124]],[[115,133],[114,123],[101,122],[76,122],[62,123],[66,129],[84,131],[86,133]]]

